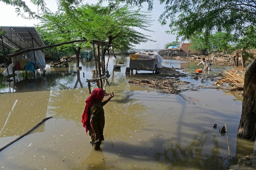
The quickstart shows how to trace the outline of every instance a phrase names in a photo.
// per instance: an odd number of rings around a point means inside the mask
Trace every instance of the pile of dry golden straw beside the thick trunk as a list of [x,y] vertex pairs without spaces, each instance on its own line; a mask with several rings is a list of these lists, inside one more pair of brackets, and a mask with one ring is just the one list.
[[243,91],[244,90],[244,77],[245,77],[245,68],[238,67],[235,69],[231,69],[225,71],[225,75],[223,75],[223,79],[215,82],[215,85],[222,86],[223,84],[228,84],[229,91]]

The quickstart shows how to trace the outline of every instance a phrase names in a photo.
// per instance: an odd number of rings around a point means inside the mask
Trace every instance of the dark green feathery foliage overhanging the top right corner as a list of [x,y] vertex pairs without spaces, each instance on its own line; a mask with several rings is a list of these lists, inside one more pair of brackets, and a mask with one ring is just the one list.
[[170,31],[182,40],[204,33],[208,38],[212,31],[244,35],[250,25],[256,23],[255,1],[252,0],[160,0],[165,11],[159,18],[162,25],[170,21]]

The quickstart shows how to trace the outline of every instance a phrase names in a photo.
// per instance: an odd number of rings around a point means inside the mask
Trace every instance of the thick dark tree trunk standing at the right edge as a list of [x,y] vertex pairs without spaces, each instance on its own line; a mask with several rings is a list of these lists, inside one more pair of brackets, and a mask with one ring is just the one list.
[[238,136],[255,140],[256,124],[256,60],[248,66],[244,80],[244,98]]

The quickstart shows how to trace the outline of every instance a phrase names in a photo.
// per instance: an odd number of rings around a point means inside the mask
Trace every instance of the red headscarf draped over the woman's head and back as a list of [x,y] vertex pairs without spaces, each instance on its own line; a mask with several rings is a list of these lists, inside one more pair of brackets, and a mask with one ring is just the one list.
[[90,117],[91,117],[91,105],[94,100],[102,100],[104,98],[105,92],[103,89],[94,89],[91,93],[91,96],[89,96],[85,100],[85,109],[84,113],[82,114],[82,124],[85,127],[85,131],[87,134],[87,131],[89,130],[90,125]]

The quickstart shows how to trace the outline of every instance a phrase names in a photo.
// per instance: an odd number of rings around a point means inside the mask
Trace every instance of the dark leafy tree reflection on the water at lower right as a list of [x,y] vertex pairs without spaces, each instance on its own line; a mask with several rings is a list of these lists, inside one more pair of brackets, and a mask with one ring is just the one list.
[[235,158],[223,158],[217,136],[210,131],[197,134],[190,145],[182,146],[170,140],[170,147],[154,155],[157,162],[167,164],[170,169],[226,170],[236,162]]

